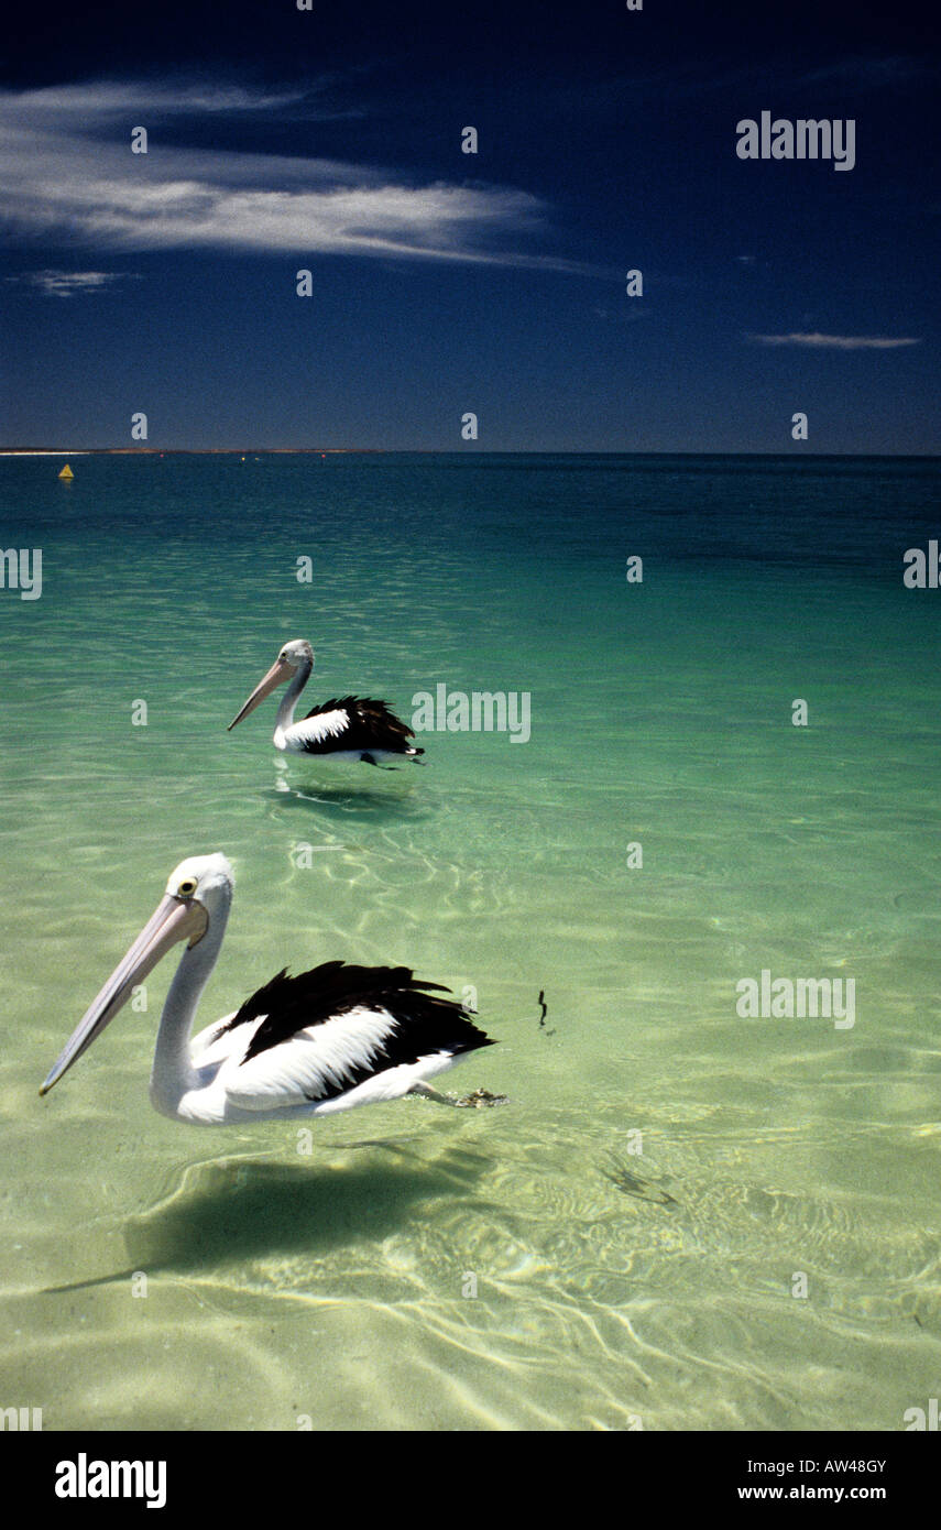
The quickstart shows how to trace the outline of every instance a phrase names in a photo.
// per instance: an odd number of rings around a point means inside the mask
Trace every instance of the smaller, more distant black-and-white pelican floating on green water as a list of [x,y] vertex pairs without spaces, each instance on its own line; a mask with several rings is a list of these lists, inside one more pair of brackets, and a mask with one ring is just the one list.
[[275,750],[291,754],[320,754],[334,760],[363,760],[366,765],[383,765],[386,760],[402,757],[419,763],[418,756],[425,751],[409,744],[409,739],[415,737],[413,730],[401,722],[384,701],[340,696],[314,707],[301,722],[295,722],[294,708],[312,669],[314,649],[306,638],[285,643],[242,711],[230,722],[226,733],[254,711],[265,696],[289,681],[274,727]]

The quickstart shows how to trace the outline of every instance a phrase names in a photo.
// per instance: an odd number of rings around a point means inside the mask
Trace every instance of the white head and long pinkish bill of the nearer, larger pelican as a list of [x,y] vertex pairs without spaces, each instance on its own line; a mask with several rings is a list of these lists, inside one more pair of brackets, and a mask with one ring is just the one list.
[[[191,949],[207,935],[213,923],[217,938],[233,901],[236,878],[225,855],[188,855],[170,875],[167,892],[138,935],[124,961],[118,962],[104,988],[95,996],[72,1036],[49,1069],[40,1094],[49,1094],[54,1083],[69,1071],[83,1051],[101,1036],[159,959],[185,941]],[[211,952],[210,942],[205,950]]]

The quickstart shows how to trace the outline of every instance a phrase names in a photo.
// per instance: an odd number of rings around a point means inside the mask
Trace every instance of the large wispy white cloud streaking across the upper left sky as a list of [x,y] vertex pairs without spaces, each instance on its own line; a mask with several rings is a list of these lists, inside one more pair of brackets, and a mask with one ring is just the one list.
[[[0,220],[20,240],[98,251],[355,254],[580,271],[525,245],[534,196],[321,158],[161,142],[168,118],[317,110],[298,93],[133,83],[0,92]],[[130,148],[147,127],[148,153]],[[181,135],[181,121],[174,136]],[[170,135],[167,135],[170,136]]]

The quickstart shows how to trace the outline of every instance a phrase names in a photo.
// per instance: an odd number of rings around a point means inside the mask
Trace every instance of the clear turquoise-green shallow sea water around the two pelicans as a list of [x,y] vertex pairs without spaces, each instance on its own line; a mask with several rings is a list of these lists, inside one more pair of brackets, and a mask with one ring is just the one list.
[[[941,591],[901,558],[941,464],[58,465],[0,461],[3,546],[43,548],[41,598],[0,591],[0,1403],[46,1429],[903,1427],[941,1354]],[[312,701],[529,692],[531,739],[285,765],[274,702],[225,725],[294,636]],[[204,1021],[282,965],[407,962],[500,1040],[445,1085],[510,1103],[375,1106],[311,1152],[176,1126],[147,1103],[170,962],[38,1100],[167,874],[214,849],[237,889]],[[741,1019],[762,968],[852,978],[855,1025]]]

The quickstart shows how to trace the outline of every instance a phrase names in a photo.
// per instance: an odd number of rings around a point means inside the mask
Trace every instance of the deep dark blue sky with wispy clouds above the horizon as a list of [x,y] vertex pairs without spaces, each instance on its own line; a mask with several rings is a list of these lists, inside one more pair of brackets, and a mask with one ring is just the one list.
[[[917,9],[55,0],[15,24],[3,444],[132,445],[142,410],[167,448],[941,450]],[[739,159],[762,110],[852,118],[854,168]]]

